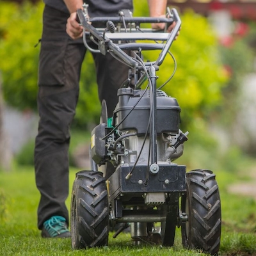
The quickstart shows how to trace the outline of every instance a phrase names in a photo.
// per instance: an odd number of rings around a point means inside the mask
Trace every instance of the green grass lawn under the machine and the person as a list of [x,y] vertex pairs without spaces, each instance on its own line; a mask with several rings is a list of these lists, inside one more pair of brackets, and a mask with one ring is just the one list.
[[[70,170],[70,190],[75,173]],[[116,239],[109,234],[109,246],[73,251],[70,239],[42,239],[36,228],[39,193],[33,167],[0,173],[0,255],[204,255],[182,248],[177,228],[173,248],[133,246],[129,234]],[[241,177],[216,173],[221,194],[222,234],[220,255],[256,255],[256,202],[253,198],[230,195],[228,184]],[[245,178],[244,178],[245,179]],[[70,198],[67,200],[69,208]]]

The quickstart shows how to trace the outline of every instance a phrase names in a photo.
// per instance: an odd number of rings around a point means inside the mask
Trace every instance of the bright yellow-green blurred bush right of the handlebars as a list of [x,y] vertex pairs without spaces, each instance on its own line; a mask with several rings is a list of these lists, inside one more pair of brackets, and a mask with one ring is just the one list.
[[207,19],[193,12],[182,16],[180,36],[172,50],[178,67],[168,92],[179,100],[185,122],[205,118],[221,103],[227,76],[217,46]]

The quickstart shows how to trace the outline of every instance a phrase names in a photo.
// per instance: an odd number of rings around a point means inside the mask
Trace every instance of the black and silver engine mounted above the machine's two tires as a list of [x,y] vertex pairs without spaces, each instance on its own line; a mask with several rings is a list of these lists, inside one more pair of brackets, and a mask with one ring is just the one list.
[[[92,159],[101,165],[148,164],[150,151],[149,90],[120,88],[111,125],[102,123],[92,131]],[[179,129],[180,107],[175,98],[157,90],[157,162],[170,163],[183,153],[182,143],[188,138]]]

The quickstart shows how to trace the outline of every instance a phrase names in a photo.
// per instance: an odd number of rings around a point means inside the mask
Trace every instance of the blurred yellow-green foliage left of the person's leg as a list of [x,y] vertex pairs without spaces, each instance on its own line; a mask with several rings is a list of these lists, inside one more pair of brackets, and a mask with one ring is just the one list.
[[43,4],[0,3],[0,70],[4,99],[19,109],[36,109],[38,53]]

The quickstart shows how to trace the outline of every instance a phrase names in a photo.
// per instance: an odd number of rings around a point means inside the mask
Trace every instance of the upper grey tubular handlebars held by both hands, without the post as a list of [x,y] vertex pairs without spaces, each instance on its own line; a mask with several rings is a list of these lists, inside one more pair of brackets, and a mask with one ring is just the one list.
[[[138,61],[135,61],[124,52],[124,50],[152,50],[152,49],[160,49],[161,52],[156,61],[145,63],[145,65],[161,65],[163,60],[168,53],[172,42],[175,40],[175,37],[179,33],[179,29],[181,26],[181,20],[179,14],[175,8],[170,10],[168,8],[168,17],[166,18],[158,18],[158,17],[95,17],[92,19],[88,19],[88,15],[86,10],[83,11],[81,9],[77,10],[77,17],[81,26],[84,28],[84,33],[90,33],[91,36],[98,42],[98,48],[101,54],[106,54],[108,51],[113,52],[118,58],[124,61],[129,67],[137,67]],[[118,33],[113,33],[115,29],[111,26],[111,33],[106,33],[106,29],[102,31],[99,28],[95,28],[92,24],[102,24],[102,27],[105,26],[106,23],[113,22],[113,24],[134,24],[135,28],[129,28],[124,31],[124,29],[120,29]],[[175,22],[175,27],[172,29],[170,33],[166,33],[163,31],[154,31],[152,29],[141,31],[140,24],[141,23],[165,23],[166,26]],[[92,23],[92,24],[91,24]],[[110,29],[109,29],[110,30]],[[122,43],[120,43],[122,40]],[[137,42],[136,40],[140,40]],[[141,40],[147,42],[141,42]],[[148,43],[148,40],[153,43]],[[156,40],[160,40],[163,43],[158,44],[154,42]],[[114,43],[114,42],[115,43]],[[118,42],[118,43],[116,43]],[[90,50],[90,49],[89,49]]]

